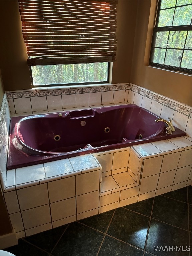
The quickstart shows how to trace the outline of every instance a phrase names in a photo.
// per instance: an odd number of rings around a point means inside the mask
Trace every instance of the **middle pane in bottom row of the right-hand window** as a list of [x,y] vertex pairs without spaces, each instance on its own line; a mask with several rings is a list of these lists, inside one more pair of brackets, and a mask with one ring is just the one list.
[[182,50],[167,49],[165,65],[179,67],[181,62]]

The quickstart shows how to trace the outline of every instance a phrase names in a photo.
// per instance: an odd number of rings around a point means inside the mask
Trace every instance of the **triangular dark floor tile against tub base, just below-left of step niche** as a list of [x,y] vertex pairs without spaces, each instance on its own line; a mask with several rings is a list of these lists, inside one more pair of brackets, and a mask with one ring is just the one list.
[[83,220],[79,220],[79,222],[105,233],[109,225],[109,222],[113,216],[113,213],[114,210],[111,210]]

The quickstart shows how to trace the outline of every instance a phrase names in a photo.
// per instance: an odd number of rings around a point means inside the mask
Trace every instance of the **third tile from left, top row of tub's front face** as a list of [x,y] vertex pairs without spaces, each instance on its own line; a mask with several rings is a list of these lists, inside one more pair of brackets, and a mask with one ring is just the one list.
[[50,203],[75,196],[75,177],[48,182]]

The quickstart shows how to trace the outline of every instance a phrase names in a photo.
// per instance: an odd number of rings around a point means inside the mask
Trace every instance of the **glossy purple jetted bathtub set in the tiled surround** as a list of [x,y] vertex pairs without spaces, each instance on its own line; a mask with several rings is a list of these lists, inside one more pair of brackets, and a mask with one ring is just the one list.
[[134,104],[12,117],[8,169],[186,135]]

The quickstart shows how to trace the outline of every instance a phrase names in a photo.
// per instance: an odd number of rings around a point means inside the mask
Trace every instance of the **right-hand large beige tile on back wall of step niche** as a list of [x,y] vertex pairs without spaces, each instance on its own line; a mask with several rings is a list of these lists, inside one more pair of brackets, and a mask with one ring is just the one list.
[[114,153],[112,170],[127,167],[129,161],[129,153],[129,150]]

